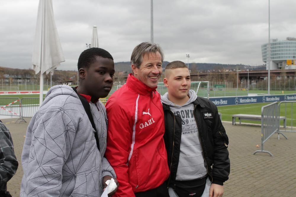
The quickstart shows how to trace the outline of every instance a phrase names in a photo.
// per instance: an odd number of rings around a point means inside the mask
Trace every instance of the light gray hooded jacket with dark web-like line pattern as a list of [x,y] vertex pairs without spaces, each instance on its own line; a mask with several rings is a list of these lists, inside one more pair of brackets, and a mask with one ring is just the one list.
[[98,101],[90,108],[100,151],[77,94],[67,85],[50,88],[27,129],[20,196],[101,196],[102,177],[115,172],[104,158],[105,107]]

